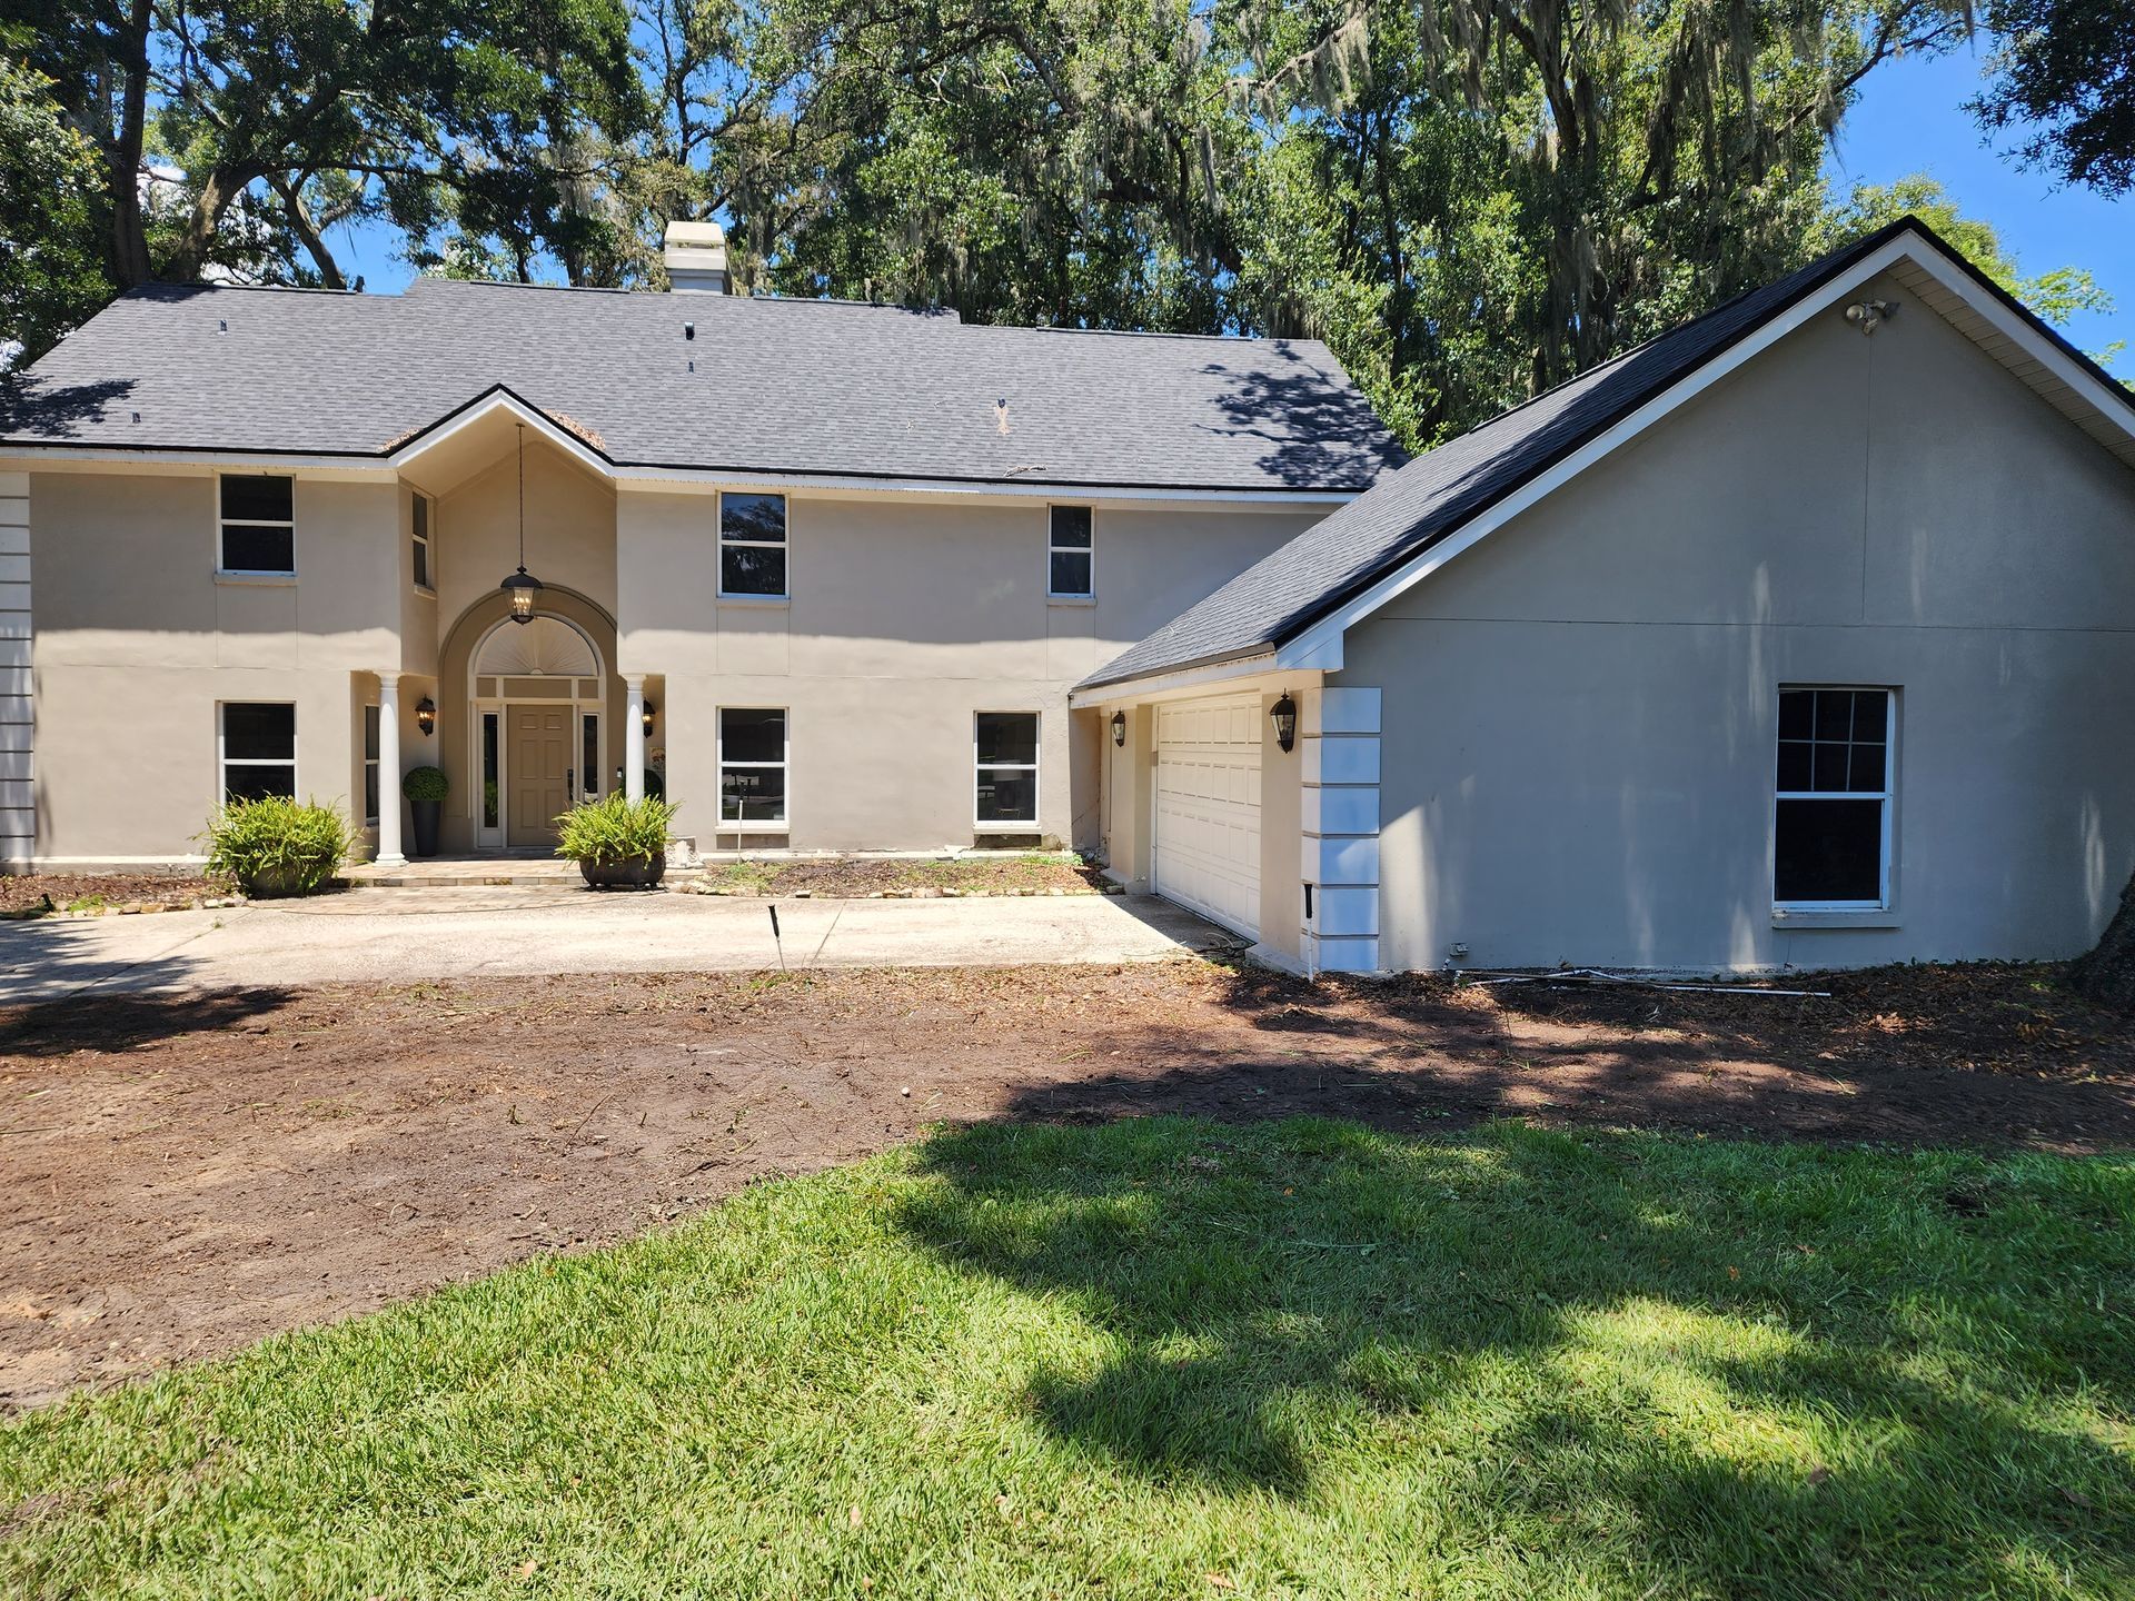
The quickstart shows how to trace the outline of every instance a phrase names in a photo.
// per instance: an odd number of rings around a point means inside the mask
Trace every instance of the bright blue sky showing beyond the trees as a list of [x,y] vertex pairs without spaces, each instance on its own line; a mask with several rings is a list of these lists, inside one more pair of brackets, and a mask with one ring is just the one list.
[[[2088,267],[2118,307],[2112,316],[2082,316],[2067,335],[2084,350],[2103,350],[2116,339],[2126,352],[2114,363],[2122,378],[2135,376],[2135,199],[2107,201],[2088,190],[2056,190],[2041,173],[1981,143],[1979,126],[1964,102],[1979,88],[1986,41],[1979,49],[1958,47],[1949,56],[1911,56],[1885,62],[1868,75],[1860,102],[1838,130],[1825,171],[1834,192],[1855,181],[1892,184],[1911,173],[1941,179],[1958,209],[1994,224],[2024,273],[2056,267]],[[393,235],[384,228],[344,231],[342,265],[363,273],[365,288],[397,290],[408,265],[393,256]]]

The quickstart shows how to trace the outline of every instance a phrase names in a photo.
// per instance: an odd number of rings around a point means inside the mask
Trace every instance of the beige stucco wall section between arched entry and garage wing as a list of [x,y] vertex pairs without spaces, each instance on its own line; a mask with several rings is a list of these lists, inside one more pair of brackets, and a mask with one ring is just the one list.
[[1093,519],[1093,602],[1048,602],[1044,504],[788,500],[786,604],[717,600],[717,500],[626,489],[617,502],[623,672],[664,675],[662,751],[677,830],[713,843],[717,709],[788,711],[796,850],[971,845],[974,715],[1035,711],[1040,828],[1097,847],[1068,711],[1089,670],[1319,512],[1114,510]]

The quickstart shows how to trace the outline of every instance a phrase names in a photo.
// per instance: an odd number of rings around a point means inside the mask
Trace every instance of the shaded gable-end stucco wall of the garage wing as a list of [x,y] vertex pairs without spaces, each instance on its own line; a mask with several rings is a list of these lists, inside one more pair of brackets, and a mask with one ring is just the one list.
[[[2067,956],[2135,867],[2135,474],[1834,310],[1349,630],[1388,967]],[[1898,689],[1892,909],[1772,909],[1781,685]]]

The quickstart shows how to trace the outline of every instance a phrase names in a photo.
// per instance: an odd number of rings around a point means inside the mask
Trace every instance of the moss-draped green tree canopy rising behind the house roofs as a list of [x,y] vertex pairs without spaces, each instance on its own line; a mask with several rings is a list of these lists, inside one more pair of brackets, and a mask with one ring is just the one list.
[[[1862,81],[1966,15],[0,0],[0,115],[43,130],[6,156],[41,199],[0,224],[38,250],[0,295],[34,354],[149,278],[344,286],[339,224],[429,271],[636,284],[668,218],[715,216],[752,292],[1326,337],[1424,446],[1934,201],[1834,201],[1821,162]],[[2099,299],[2005,280],[2047,312]]]

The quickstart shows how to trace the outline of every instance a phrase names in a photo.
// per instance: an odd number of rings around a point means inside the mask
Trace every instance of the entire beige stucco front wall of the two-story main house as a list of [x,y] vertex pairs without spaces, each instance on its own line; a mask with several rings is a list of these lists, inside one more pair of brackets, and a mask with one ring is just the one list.
[[[361,813],[363,707],[399,670],[399,760],[453,779],[444,847],[472,835],[478,773],[468,651],[519,561],[512,457],[444,487],[433,591],[410,564],[412,491],[297,474],[297,581],[216,566],[211,472],[38,472],[36,856],[173,860],[216,805],[216,704],[297,704],[297,788]],[[525,459],[527,568],[608,666],[606,779],[623,760],[623,672],[645,672],[647,739],[713,843],[717,707],[792,713],[790,843],[969,845],[971,715],[1038,711],[1042,835],[1095,843],[1095,719],[1068,687],[1319,512],[1100,508],[1093,604],[1048,604],[1046,508],[910,495],[790,497],[784,606],[717,600],[717,497],[617,489],[544,444]],[[423,696],[438,730],[416,726]],[[361,818],[359,818],[361,822]]]

